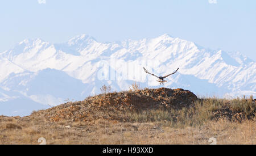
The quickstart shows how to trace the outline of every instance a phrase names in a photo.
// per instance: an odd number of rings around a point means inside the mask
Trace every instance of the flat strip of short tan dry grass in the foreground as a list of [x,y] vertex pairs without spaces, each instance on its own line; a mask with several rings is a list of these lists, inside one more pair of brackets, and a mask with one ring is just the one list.
[[256,121],[242,123],[219,119],[201,127],[172,128],[164,122],[122,123],[99,119],[83,123],[48,123],[24,121],[22,129],[2,129],[0,144],[256,144]]

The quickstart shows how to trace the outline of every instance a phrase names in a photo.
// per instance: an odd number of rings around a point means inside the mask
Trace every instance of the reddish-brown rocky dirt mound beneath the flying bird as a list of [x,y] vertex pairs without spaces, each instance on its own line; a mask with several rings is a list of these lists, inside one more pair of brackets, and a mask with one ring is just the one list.
[[136,91],[110,92],[89,96],[84,101],[65,103],[47,110],[32,113],[44,116],[50,121],[72,120],[92,121],[99,118],[125,120],[123,111],[143,111],[145,109],[181,109],[189,107],[197,96],[183,89],[157,88]]

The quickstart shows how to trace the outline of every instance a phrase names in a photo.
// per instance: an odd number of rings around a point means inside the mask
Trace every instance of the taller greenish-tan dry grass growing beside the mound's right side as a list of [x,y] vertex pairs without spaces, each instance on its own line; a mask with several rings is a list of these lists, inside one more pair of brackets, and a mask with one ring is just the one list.
[[148,109],[141,112],[127,112],[132,122],[168,121],[175,128],[198,127],[209,121],[224,118],[242,122],[255,117],[256,105],[246,99],[198,99],[190,107],[182,109]]

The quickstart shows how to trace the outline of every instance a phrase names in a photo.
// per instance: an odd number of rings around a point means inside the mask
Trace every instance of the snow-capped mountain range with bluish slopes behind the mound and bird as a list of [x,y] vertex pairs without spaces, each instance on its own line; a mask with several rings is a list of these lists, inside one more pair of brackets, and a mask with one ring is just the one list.
[[156,75],[166,75],[164,87],[184,88],[199,96],[256,96],[256,62],[239,52],[210,50],[164,34],[154,39],[100,43],[79,35],[62,44],[24,40],[0,53],[0,115],[29,115],[82,100],[101,92],[159,87]]

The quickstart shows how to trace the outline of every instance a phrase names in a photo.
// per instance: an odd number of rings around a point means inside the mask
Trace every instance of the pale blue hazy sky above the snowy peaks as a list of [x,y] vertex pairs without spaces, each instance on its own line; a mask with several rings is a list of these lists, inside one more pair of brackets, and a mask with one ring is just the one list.
[[27,38],[61,43],[86,33],[118,41],[168,33],[256,61],[255,8],[255,0],[0,1],[0,52]]

